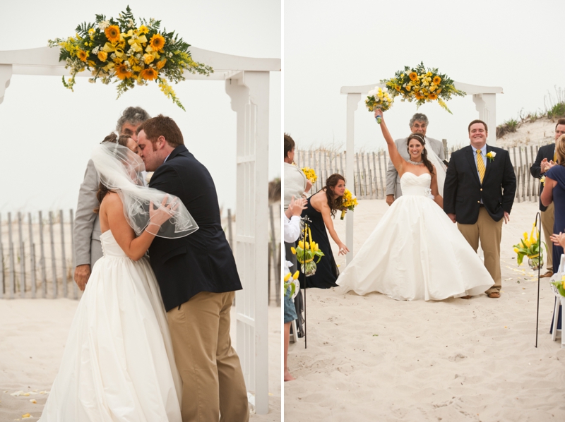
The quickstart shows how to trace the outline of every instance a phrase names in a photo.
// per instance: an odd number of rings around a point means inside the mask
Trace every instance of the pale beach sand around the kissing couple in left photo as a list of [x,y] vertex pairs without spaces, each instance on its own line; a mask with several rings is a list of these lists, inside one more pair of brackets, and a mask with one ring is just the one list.
[[[37,421],[61,364],[69,327],[78,306],[72,299],[0,300],[0,421]],[[268,308],[269,413],[251,421],[280,421],[280,307]],[[235,346],[235,308],[232,308]],[[14,392],[30,395],[12,396]],[[37,404],[30,402],[35,399]],[[22,419],[30,414],[32,418]]]

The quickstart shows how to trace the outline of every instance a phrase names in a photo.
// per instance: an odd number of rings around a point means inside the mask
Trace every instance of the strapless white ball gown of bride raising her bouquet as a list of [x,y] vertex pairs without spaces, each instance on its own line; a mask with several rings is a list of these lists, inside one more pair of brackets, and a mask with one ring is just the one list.
[[429,174],[403,174],[403,195],[337,280],[345,291],[429,301],[475,296],[494,284],[457,225],[430,199],[431,181]]

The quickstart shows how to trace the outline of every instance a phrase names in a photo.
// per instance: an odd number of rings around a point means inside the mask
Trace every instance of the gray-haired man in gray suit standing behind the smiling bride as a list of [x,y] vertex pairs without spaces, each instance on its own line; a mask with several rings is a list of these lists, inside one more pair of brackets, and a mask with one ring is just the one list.
[[[440,140],[428,138],[426,136],[427,128],[428,118],[425,114],[416,113],[412,116],[412,119],[410,119],[410,132],[420,133],[420,135],[424,136],[427,145],[432,147],[432,150],[436,153],[439,159],[443,161],[446,159],[444,144],[441,143]],[[396,149],[400,152],[400,156],[408,161],[410,159],[410,155],[408,155],[408,145],[406,145],[407,140],[408,137],[401,138],[395,140],[394,143],[396,144]],[[400,196],[402,196],[400,177],[398,177],[398,171],[394,168],[393,163],[390,159],[388,159],[388,166],[386,169],[386,203],[390,206],[394,200]]]

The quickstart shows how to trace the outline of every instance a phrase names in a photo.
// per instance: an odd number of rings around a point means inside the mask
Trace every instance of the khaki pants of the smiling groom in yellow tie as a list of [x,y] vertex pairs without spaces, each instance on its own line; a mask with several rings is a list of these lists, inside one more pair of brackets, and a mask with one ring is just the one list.
[[494,285],[485,293],[494,291],[499,292],[502,287],[502,277],[500,275],[500,241],[502,237],[502,222],[495,222],[489,215],[487,208],[480,207],[479,218],[475,224],[459,224],[457,227],[463,237],[469,242],[471,248],[477,252],[479,239],[481,248],[484,252],[484,266],[494,279]]

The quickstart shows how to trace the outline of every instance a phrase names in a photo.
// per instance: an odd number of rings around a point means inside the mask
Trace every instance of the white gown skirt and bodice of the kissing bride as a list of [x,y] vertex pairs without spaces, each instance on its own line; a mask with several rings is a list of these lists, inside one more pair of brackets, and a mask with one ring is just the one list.
[[147,258],[105,231],[42,422],[180,422],[182,380]]

